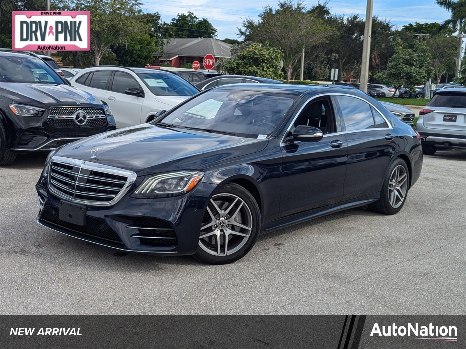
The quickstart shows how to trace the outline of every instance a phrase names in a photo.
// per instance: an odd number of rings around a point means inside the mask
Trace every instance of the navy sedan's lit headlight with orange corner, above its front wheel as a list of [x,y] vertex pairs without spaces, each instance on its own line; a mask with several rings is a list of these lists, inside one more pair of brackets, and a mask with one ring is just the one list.
[[157,198],[182,195],[194,188],[204,176],[201,171],[180,171],[146,176],[132,196]]

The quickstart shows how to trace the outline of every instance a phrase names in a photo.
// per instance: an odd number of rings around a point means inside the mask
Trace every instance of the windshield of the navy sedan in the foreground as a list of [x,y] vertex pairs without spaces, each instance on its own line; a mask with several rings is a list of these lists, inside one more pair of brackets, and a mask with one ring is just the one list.
[[178,107],[160,124],[266,138],[277,128],[295,98],[257,91],[211,90]]

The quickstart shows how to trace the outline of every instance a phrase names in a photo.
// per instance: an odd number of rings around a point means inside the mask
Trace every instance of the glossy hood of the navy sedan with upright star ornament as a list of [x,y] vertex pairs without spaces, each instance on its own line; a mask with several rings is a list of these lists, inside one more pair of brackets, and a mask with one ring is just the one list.
[[[213,164],[264,149],[268,140],[165,128],[149,123],[75,141],[56,155],[149,175],[180,169],[204,170]],[[91,158],[91,148],[97,147]]]

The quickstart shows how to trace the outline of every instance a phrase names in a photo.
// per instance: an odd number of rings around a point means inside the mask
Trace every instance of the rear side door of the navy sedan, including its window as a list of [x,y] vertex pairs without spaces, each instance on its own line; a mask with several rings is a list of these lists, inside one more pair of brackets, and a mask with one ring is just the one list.
[[377,108],[363,98],[343,94],[334,97],[348,142],[342,201],[376,194],[395,152],[397,135]]

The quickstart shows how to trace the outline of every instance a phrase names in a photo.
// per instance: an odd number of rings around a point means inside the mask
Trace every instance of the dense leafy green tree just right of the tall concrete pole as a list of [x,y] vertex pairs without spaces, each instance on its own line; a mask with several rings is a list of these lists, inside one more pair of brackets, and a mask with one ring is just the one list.
[[399,87],[407,87],[414,92],[416,85],[424,84],[433,75],[431,54],[425,42],[417,40],[414,49],[405,46],[400,38],[395,38],[395,53],[391,56],[387,69],[375,76],[377,81],[395,87],[395,93]]

